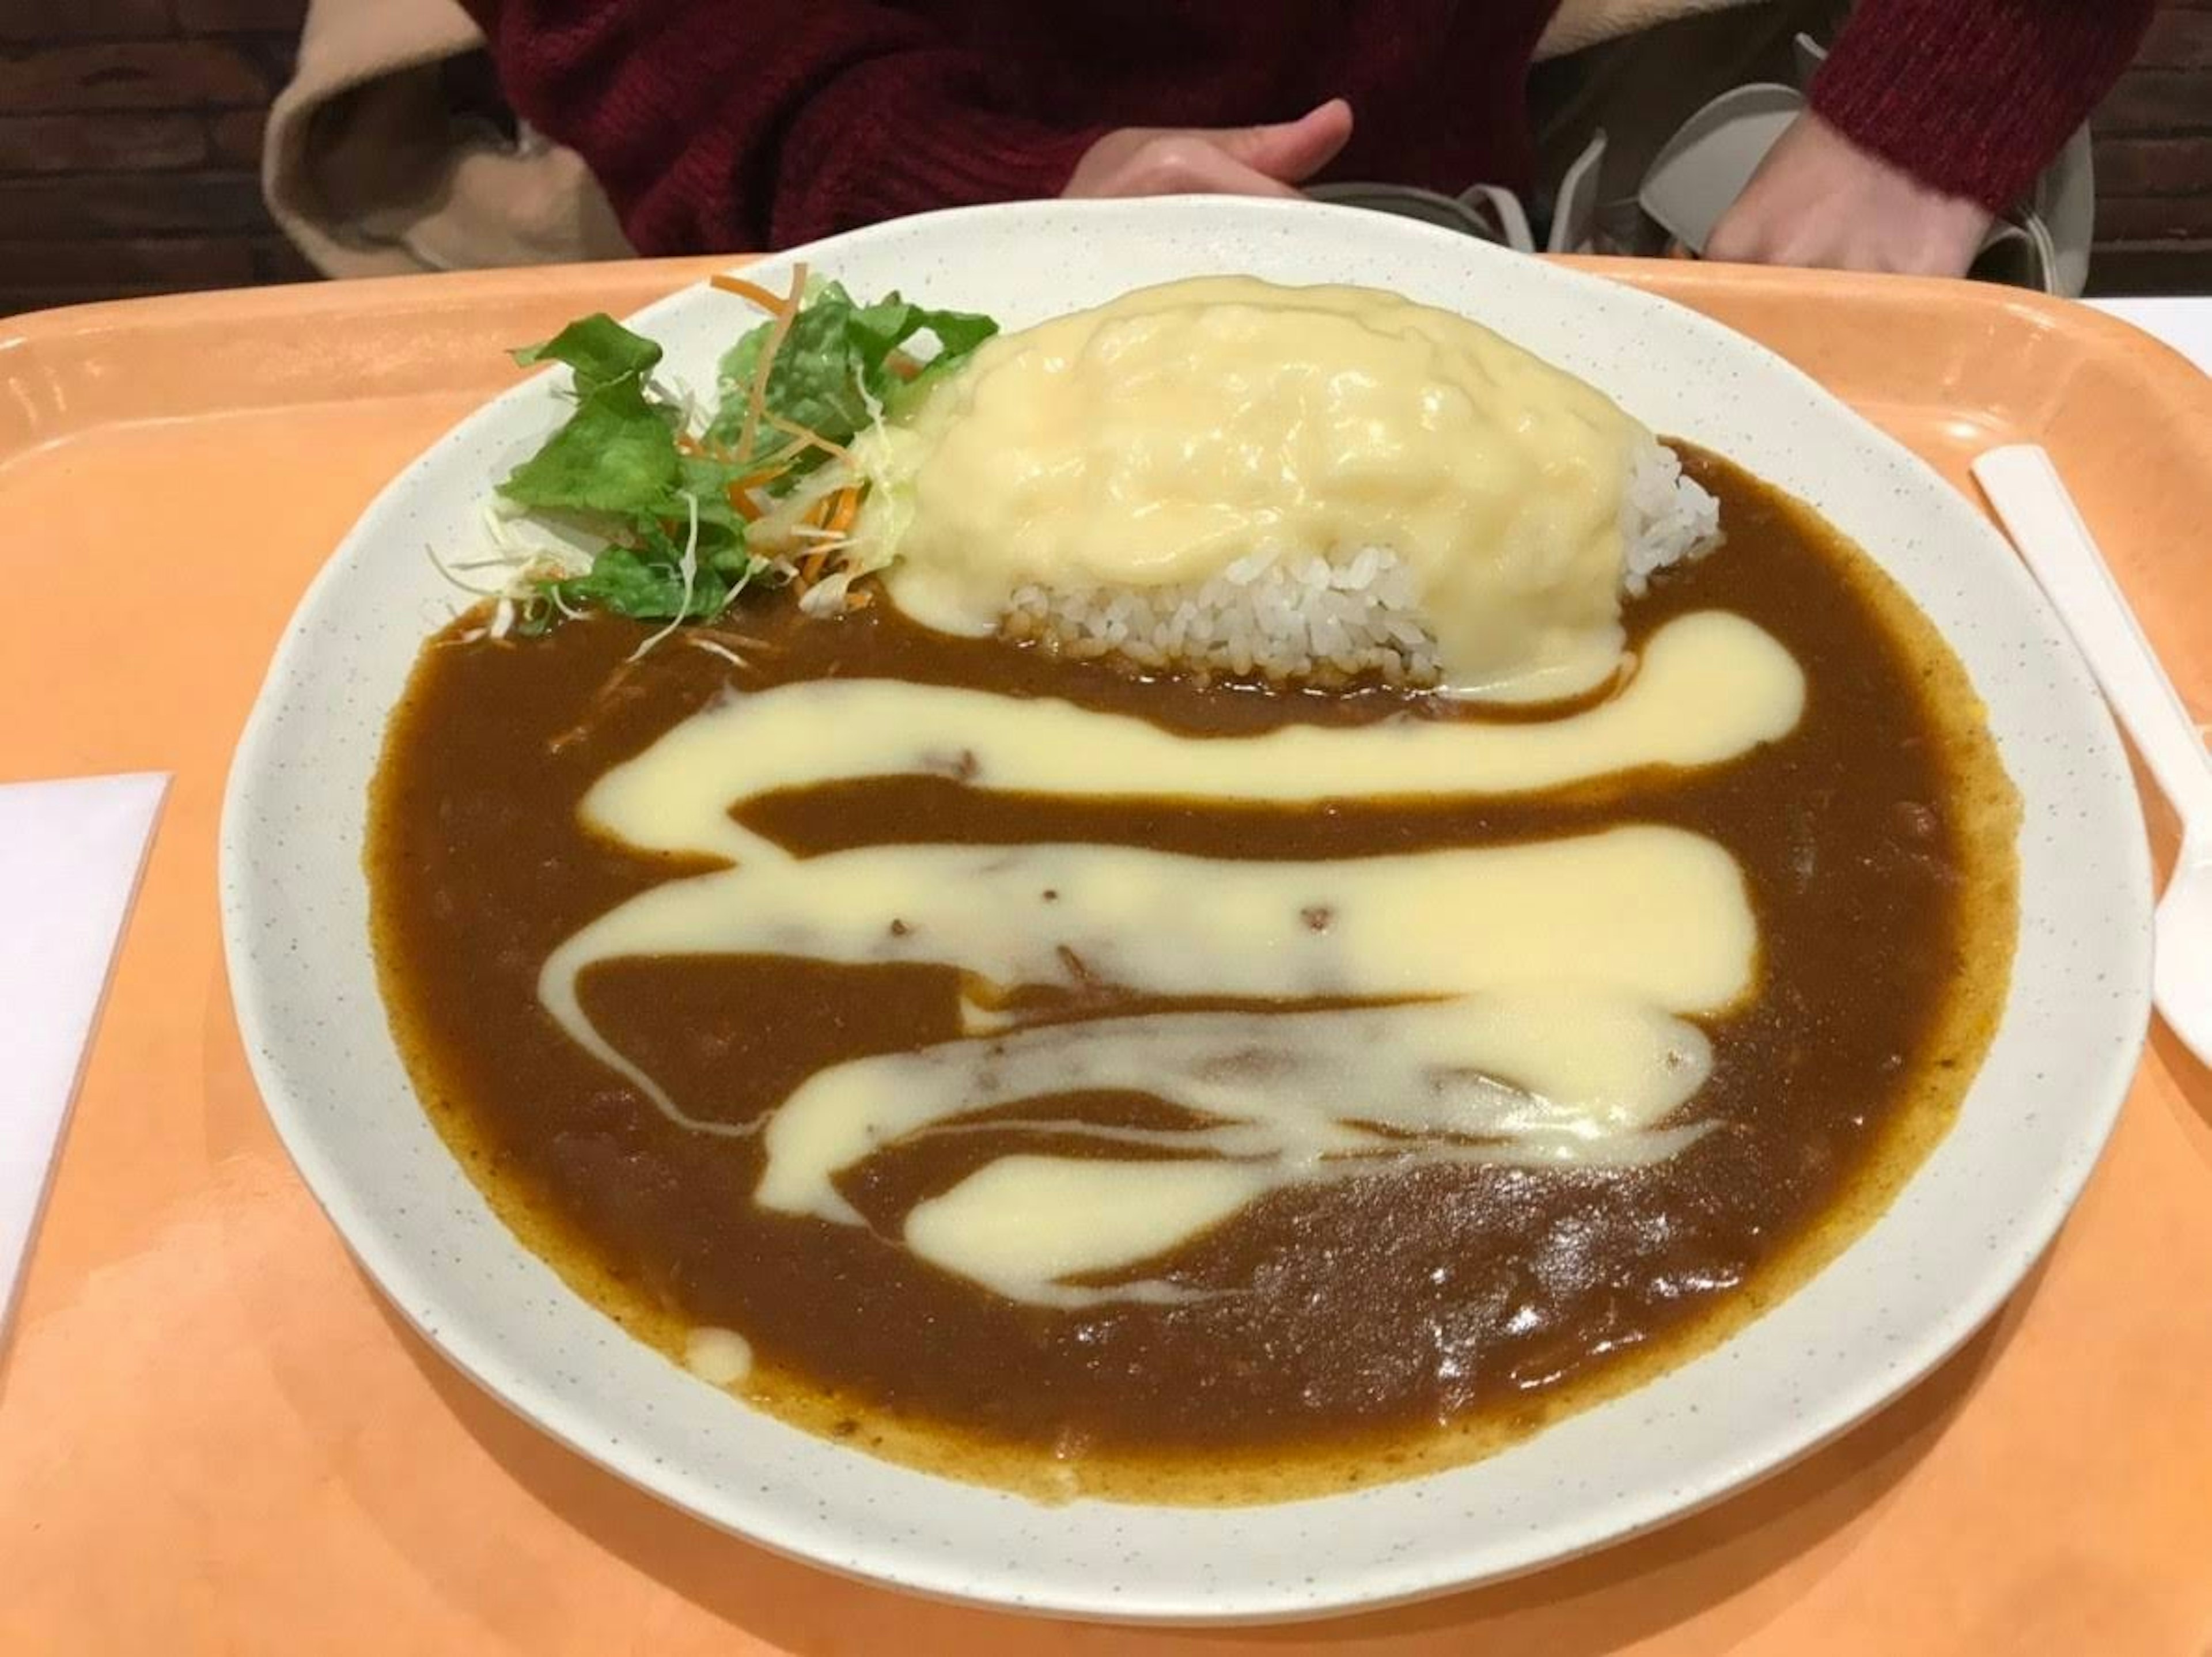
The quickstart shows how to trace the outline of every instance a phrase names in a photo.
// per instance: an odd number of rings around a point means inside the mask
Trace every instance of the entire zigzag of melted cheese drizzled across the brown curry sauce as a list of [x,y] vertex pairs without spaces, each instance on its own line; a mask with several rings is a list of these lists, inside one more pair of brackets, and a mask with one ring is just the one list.
[[[1657,635],[1613,701],[1544,723],[1394,721],[1179,737],[1071,704],[810,681],[732,699],[613,768],[584,816],[628,845],[730,867],[653,887],[546,960],[562,1029],[668,1117],[765,1135],[763,1206],[856,1226],[841,1173],[960,1119],[1075,1091],[1183,1106],[1186,1126],[1033,1126],[1130,1155],[1011,1155],[918,1203],[902,1243],[1040,1305],[1161,1299],[1141,1276],[1290,1184],[1438,1161],[1655,1161],[1712,1051],[1688,1015],[1756,982],[1734,858],[1677,827],[1338,861],[1130,845],[869,845],[794,858],[732,821],[787,788],[956,774],[1068,796],[1279,803],[1511,794],[1648,765],[1721,763],[1787,732],[1796,664],[1725,615]],[[630,956],[768,953],[964,969],[967,1035],[834,1064],[759,1122],[688,1115],[593,1024],[584,973]],[[1018,1026],[1004,991],[1108,982],[1281,1011],[1161,1011]],[[1314,1007],[1321,1000],[1367,1002]],[[1128,1272],[1139,1272],[1128,1276]],[[1106,1276],[1110,1281],[1084,1281]]]

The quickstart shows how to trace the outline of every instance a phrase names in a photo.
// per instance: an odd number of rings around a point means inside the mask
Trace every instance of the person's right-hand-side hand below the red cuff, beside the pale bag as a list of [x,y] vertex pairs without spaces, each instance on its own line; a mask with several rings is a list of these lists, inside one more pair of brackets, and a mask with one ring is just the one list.
[[1964,277],[1991,212],[1858,148],[1812,111],[1767,150],[1708,259]]

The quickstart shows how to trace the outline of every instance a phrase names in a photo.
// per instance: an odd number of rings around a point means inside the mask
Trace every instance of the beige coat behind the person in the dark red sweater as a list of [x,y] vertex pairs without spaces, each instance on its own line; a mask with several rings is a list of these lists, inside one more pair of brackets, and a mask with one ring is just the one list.
[[[1750,0],[1562,0],[1557,58]],[[482,49],[453,0],[312,0],[299,69],[270,108],[270,212],[332,277],[622,259],[630,243],[584,161],[458,117],[440,66]]]

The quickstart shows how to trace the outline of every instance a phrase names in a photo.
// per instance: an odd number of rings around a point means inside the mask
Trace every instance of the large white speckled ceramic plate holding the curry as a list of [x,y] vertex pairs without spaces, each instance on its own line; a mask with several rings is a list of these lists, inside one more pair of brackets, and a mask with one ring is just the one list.
[[[476,544],[489,484],[560,420],[540,376],[440,438],[323,569],[223,812],[230,980],[270,1115],[347,1243],[453,1363],[624,1478],[834,1571],[1084,1617],[1261,1619],[1438,1593],[1657,1524],[1865,1416],[2000,1305],[2088,1177],[2135,1071],[2150,874],[2088,675],[2004,542],[1933,471],[1703,316],[1354,208],[1026,204],[905,219],[805,257],[860,294],[896,285],[1009,325],[1201,272],[1394,288],[1812,500],[1942,626],[2026,799],[2004,1022],[1958,1126],[1801,1294],[1473,1467],[1267,1509],[1037,1507],[783,1427],[626,1338],[509,1237],[422,1117],[376,993],[363,801],[416,646],[453,608],[425,544]],[[750,274],[781,285],[785,268]],[[675,376],[706,387],[745,321],[692,288],[637,325],[668,345]]]

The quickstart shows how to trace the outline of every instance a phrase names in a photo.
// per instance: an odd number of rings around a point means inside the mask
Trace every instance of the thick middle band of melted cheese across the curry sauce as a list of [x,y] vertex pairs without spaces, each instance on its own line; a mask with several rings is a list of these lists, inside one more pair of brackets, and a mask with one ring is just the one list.
[[[670,1115],[584,1013],[580,978],[630,956],[956,965],[973,993],[1274,1000],[1475,996],[1588,984],[1668,1011],[1752,987],[1756,923],[1734,858],[1672,827],[1332,863],[1128,845],[872,845],[745,863],[641,892],[555,949],[538,993]],[[1146,1060],[1161,1073],[1166,1060]],[[1383,1093],[1385,1088],[1369,1088]]]

